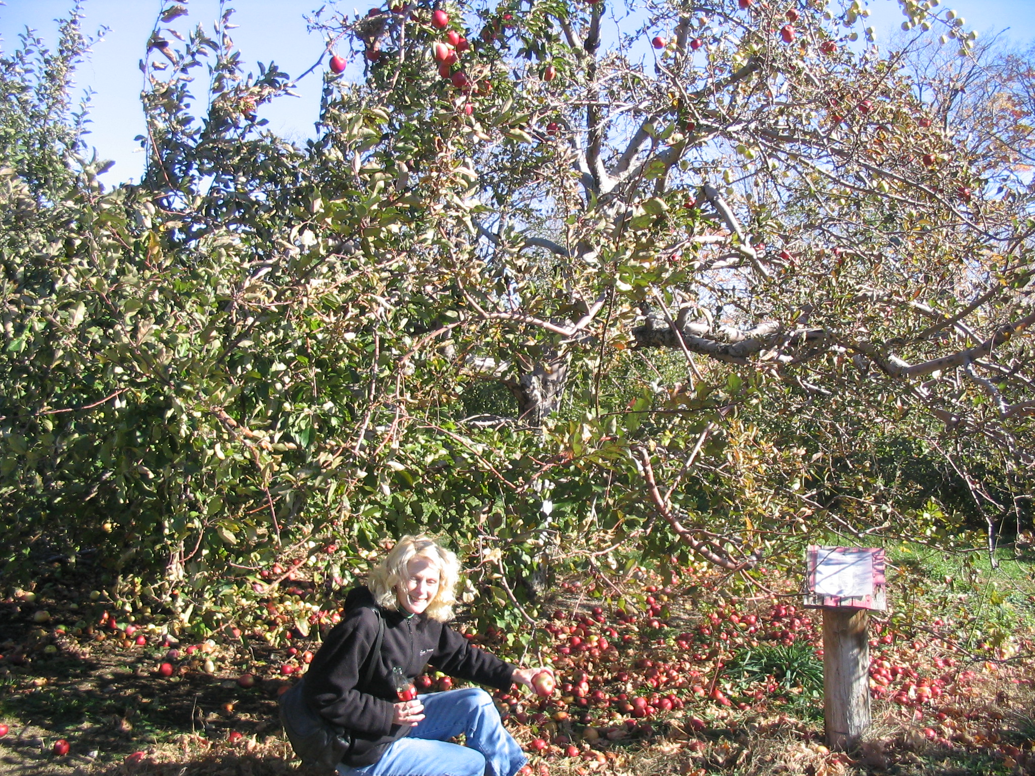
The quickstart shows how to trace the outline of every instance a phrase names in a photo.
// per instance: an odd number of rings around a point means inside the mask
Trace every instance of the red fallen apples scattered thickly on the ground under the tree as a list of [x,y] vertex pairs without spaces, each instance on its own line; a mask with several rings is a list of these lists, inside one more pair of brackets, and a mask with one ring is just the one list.
[[[580,602],[588,592],[578,581],[562,587]],[[93,641],[96,648],[140,650],[145,660],[154,660],[153,676],[158,680],[204,673],[236,681],[242,690],[259,686],[275,695],[305,673],[318,648],[307,633],[298,630],[299,621],[291,608],[292,601],[304,602],[315,591],[297,579],[269,592],[267,618],[256,622],[247,635],[228,626],[213,638],[181,645],[153,624],[117,621],[114,609],[99,613],[90,625],[77,623],[68,628],[68,635]],[[501,714],[510,720],[530,753],[545,758],[579,757],[586,760],[586,768],[595,770],[615,758],[614,747],[608,746],[611,742],[670,734],[692,739],[706,727],[731,727],[752,716],[782,714],[782,706],[801,693],[800,686],[787,686],[771,675],[747,680],[731,663],[744,651],[767,645],[797,645],[822,657],[819,617],[787,602],[793,600],[791,596],[774,597],[762,606],[726,603],[711,610],[684,608],[673,587],[646,585],[639,596],[629,591],[627,599],[637,598],[642,604],[638,611],[576,604],[573,609],[557,608],[542,624],[549,634],[542,658],[553,673],[536,678],[534,693],[518,689],[496,693]],[[58,640],[65,636],[65,626],[51,622],[49,615],[43,618],[37,613],[32,619],[51,630],[38,644],[53,648],[55,643],[69,640]],[[339,622],[341,613],[310,609],[309,620],[315,631]],[[947,625],[941,620],[936,624]],[[506,653],[503,631],[493,626],[482,632],[460,627],[473,644]],[[267,643],[264,661],[244,657],[240,648],[248,635]],[[950,654],[952,650],[944,643],[907,637],[887,626],[875,634],[870,646],[869,683],[875,698],[890,702],[888,708],[900,709],[911,722],[926,724],[922,735],[927,740],[965,745],[983,740],[968,733],[974,718],[960,700],[975,692],[980,674],[995,670],[992,663],[965,670],[960,656]],[[27,665],[30,652],[21,647],[5,652],[6,656],[0,655],[0,670],[5,663]],[[451,689],[454,681],[436,674],[418,677],[415,684],[421,692],[433,692]],[[818,703],[818,698],[811,700]],[[228,741],[240,739],[239,733],[231,732]],[[56,754],[59,749],[55,748]]]

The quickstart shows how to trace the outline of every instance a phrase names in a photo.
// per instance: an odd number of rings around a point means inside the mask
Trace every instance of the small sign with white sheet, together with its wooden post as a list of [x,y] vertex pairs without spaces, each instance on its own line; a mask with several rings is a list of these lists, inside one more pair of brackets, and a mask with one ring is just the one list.
[[886,607],[884,550],[809,545],[805,606],[823,609],[824,726],[831,749],[869,727],[869,609]]

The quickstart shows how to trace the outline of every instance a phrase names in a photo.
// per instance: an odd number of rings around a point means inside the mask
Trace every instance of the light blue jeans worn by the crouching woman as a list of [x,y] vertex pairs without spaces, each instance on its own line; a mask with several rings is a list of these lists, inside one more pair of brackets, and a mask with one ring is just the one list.
[[[339,765],[341,776],[514,776],[525,753],[513,740],[489,693],[477,687],[417,696],[424,719],[392,742],[377,763]],[[464,734],[467,746],[446,739]]]

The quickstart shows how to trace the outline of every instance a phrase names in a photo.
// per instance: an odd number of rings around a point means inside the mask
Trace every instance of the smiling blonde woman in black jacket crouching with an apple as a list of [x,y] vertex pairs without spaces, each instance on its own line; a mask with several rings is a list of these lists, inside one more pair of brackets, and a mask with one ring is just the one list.
[[[549,668],[516,668],[483,652],[452,619],[460,563],[425,536],[405,536],[346,599],[305,675],[305,700],[351,735],[342,776],[514,776],[525,765],[492,698],[468,688],[397,700],[392,668],[411,680],[431,663],[450,676],[507,689]],[[377,655],[379,614],[384,635]],[[374,661],[369,684],[367,659]],[[447,743],[464,734],[467,746]]]

